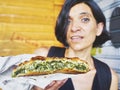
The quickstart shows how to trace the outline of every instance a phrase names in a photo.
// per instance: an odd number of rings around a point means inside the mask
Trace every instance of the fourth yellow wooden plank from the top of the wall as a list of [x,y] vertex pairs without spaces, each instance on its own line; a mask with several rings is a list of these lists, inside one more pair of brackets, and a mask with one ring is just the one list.
[[14,23],[0,23],[0,30],[7,32],[53,32],[54,25],[45,24],[14,24]]

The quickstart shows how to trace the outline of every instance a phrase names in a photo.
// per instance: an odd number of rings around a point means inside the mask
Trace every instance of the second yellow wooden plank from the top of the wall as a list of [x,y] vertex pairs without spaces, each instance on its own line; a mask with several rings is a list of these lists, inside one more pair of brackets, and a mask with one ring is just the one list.
[[54,16],[54,9],[45,8],[25,8],[25,7],[12,7],[0,6],[0,15],[18,15],[18,16]]

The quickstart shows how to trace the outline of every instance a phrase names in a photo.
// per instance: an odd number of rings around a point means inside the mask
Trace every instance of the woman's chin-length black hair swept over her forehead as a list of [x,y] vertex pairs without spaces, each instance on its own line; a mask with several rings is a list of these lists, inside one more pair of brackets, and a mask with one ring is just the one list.
[[106,19],[100,9],[100,7],[93,0],[66,0],[62,10],[58,16],[55,26],[55,35],[58,41],[60,41],[64,46],[69,46],[66,40],[67,27],[68,27],[68,16],[70,9],[78,4],[85,3],[91,8],[93,16],[97,23],[103,22],[104,28],[100,36],[96,36],[96,39],[93,43],[93,47],[100,47],[107,40],[110,40],[109,33],[106,30]]

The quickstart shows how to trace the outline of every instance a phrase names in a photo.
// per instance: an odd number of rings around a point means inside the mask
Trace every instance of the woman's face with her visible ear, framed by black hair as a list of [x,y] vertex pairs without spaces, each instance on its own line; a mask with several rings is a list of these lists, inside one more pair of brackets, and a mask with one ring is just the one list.
[[92,47],[96,35],[103,29],[103,24],[96,23],[91,9],[84,3],[70,9],[68,21],[67,43],[74,50]]

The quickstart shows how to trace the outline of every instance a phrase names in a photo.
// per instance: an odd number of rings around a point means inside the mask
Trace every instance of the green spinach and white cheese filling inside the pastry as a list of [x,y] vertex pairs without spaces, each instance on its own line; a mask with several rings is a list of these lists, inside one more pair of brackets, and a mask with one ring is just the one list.
[[71,62],[69,60],[53,60],[53,61],[40,61],[36,60],[33,63],[28,63],[26,65],[20,66],[17,70],[12,73],[13,77],[19,74],[25,74],[28,72],[54,72],[61,69],[74,69],[80,72],[88,71],[89,68],[86,67],[85,63]]

